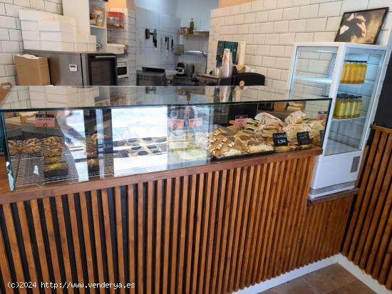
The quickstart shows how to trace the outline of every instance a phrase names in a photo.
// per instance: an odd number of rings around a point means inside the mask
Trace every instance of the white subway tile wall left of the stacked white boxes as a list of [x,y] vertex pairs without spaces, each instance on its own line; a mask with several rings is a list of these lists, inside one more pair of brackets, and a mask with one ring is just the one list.
[[[16,85],[14,56],[24,51],[20,9],[63,13],[62,0],[0,0],[0,83]],[[35,38],[29,35],[31,42]]]

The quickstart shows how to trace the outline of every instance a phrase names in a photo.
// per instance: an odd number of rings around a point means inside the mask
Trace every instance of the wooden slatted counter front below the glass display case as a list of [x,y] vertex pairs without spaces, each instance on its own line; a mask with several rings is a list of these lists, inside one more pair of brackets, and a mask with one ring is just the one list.
[[232,293],[339,253],[352,197],[306,205],[318,154],[1,195],[0,289],[43,280]]

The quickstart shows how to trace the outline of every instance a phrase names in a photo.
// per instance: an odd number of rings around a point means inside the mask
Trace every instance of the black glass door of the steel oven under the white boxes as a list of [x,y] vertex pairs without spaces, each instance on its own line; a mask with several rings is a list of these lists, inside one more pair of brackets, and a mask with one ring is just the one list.
[[110,53],[87,56],[88,85],[117,85],[117,57]]

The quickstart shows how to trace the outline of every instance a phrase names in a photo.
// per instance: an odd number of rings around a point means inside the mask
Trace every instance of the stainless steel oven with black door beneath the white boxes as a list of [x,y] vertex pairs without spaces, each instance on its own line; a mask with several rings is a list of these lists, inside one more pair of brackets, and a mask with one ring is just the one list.
[[112,53],[26,51],[47,57],[53,85],[117,85],[117,57]]

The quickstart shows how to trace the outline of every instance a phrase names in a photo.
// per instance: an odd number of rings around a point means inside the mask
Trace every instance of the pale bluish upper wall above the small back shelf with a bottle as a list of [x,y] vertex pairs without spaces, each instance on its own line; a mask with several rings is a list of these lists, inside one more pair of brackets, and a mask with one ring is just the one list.
[[212,9],[219,6],[219,0],[177,0],[177,17],[181,26],[189,26],[195,21],[195,29],[208,31]]

